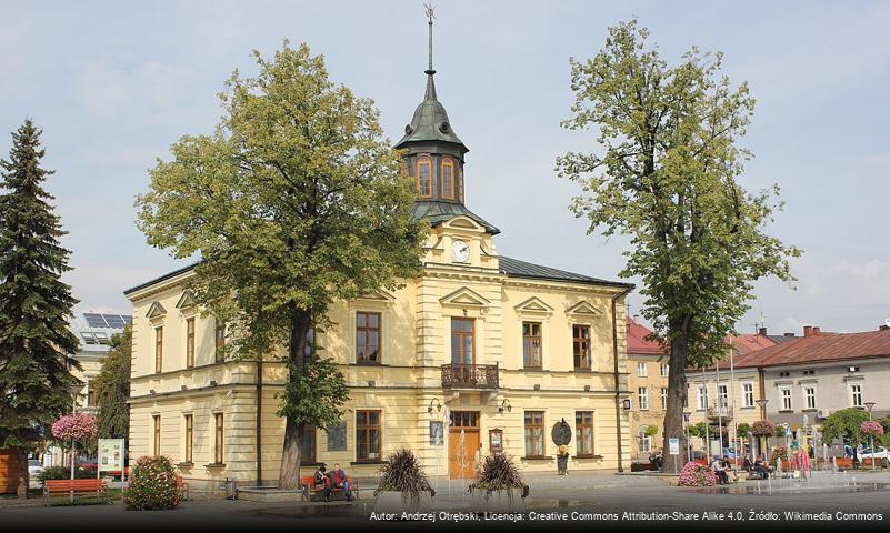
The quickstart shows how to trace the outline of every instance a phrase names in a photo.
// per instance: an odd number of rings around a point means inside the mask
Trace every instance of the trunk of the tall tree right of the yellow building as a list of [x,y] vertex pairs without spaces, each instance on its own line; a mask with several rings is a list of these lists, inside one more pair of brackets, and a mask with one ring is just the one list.
[[[686,364],[689,346],[689,336],[686,332],[671,342],[671,356],[668,362],[668,409],[664,411],[664,432],[662,442],[662,457],[664,472],[680,471],[683,464],[691,460],[687,457],[687,442],[683,432],[683,404],[686,403]],[[680,455],[670,454],[670,439],[680,440]]]

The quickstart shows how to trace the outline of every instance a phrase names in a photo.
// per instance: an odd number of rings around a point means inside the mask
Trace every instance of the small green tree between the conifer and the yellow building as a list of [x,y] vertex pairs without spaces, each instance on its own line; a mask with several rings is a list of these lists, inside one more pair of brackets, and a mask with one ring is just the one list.
[[102,370],[92,381],[99,413],[96,425],[100,439],[129,439],[130,433],[130,363],[132,361],[133,332],[128,324],[123,333],[111,336],[109,351]]

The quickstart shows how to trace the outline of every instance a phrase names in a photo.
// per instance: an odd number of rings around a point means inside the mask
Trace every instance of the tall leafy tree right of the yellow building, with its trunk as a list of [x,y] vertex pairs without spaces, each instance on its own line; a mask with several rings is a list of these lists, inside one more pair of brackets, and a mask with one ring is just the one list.
[[682,439],[686,369],[727,352],[753,282],[791,281],[799,251],[763,232],[781,207],[778,188],[751,194],[737,181],[749,157],[737,142],[754,107],[747,84],[732,88],[722,56],[696,48],[669,67],[648,36],[622,22],[596,57],[571,60],[576,101],[563,125],[597,130],[600,149],[567,153],[557,171],[581,185],[571,209],[590,233],[630,237],[621,275],[642,279],[641,314],[670,346],[667,450]]

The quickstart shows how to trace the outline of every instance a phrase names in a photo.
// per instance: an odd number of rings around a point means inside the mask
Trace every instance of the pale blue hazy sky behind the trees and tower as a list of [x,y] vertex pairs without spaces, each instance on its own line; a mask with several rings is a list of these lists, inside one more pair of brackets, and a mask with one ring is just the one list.
[[[326,57],[331,79],[374,100],[394,142],[423,95],[427,20],[409,1],[0,0],[0,157],[26,117],[43,128],[47,189],[69,234],[66,281],[79,311],[131,311],[123,291],[184,264],[146,243],[137,194],[183,134],[212,131],[217,94],[252,50],[284,39]],[[693,46],[724,52],[757,109],[740,183],[781,188],[767,231],[804,251],[793,286],[756,285],[738,323],[770,333],[874,330],[890,319],[890,2],[436,2],[439,100],[467,155],[467,204],[498,225],[498,251],[618,279],[628,240],[587,234],[569,211],[578,185],[554,160],[597,151],[569,131],[569,58],[638,18],[669,63]],[[639,283],[639,280],[631,279]],[[631,295],[630,312],[642,301]]]

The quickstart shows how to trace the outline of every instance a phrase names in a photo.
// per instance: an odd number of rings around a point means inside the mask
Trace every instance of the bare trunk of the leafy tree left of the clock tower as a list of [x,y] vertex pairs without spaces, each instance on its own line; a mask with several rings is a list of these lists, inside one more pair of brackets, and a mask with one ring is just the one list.
[[[312,313],[294,310],[291,313],[290,338],[288,340],[288,359],[292,363],[288,380],[294,379],[294,372],[301,372],[306,360],[306,338],[312,328]],[[287,416],[284,423],[284,447],[281,451],[281,466],[278,471],[279,489],[299,489],[300,456],[303,444],[303,424]]]

